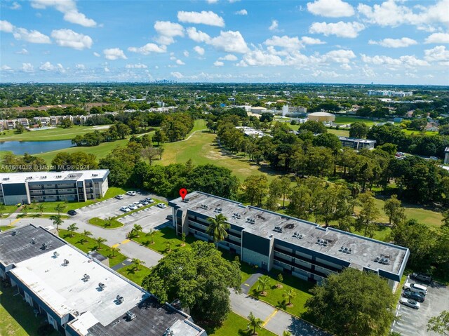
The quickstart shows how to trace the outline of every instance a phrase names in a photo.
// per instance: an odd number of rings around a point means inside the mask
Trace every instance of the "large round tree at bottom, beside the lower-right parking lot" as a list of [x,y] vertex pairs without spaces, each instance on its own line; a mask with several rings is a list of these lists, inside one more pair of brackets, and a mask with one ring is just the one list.
[[394,321],[396,299],[377,274],[347,268],[312,288],[307,314],[335,335],[384,335]]

